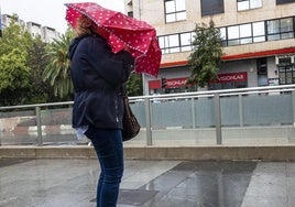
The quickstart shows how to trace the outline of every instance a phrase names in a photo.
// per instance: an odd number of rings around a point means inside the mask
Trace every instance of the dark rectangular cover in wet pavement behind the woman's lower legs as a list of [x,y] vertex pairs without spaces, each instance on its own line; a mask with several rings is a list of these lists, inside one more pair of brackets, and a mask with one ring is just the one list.
[[[120,189],[118,204],[141,206],[152,199],[159,192],[145,189]],[[96,203],[96,198],[90,201]]]

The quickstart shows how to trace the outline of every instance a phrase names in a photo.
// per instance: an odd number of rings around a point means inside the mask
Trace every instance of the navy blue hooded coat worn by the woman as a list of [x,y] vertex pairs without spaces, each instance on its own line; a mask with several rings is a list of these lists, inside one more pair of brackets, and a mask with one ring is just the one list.
[[125,51],[113,54],[99,35],[74,39],[69,58],[75,90],[73,128],[122,129],[122,85],[134,58]]

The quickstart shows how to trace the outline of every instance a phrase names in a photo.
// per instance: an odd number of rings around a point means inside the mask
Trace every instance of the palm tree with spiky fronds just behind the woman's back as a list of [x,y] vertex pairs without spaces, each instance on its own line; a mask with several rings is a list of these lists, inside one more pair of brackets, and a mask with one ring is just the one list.
[[43,80],[50,80],[54,88],[54,96],[64,98],[73,92],[73,84],[69,75],[69,59],[67,52],[73,39],[73,32],[68,30],[59,40],[47,45],[46,57],[48,65],[43,73]]

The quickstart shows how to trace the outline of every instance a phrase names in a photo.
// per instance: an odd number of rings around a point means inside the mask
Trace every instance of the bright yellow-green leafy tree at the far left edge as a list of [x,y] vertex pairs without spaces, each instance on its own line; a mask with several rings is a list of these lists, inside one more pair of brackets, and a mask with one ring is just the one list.
[[28,50],[33,42],[24,26],[17,24],[17,17],[3,29],[0,39],[0,103],[22,105],[30,91]]

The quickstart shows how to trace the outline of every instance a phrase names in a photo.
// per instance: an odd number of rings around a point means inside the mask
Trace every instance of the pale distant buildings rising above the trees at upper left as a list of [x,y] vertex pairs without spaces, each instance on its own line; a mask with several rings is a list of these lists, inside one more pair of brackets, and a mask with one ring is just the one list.
[[[1,21],[2,29],[4,29],[6,26],[8,26],[10,24],[12,19],[15,17],[3,14],[3,15],[1,15],[1,18],[2,18],[2,21]],[[44,26],[44,25],[41,25],[41,24],[35,23],[35,22],[24,22],[19,17],[17,17],[15,22],[18,24],[20,24],[21,26],[25,26],[28,32],[33,37],[41,36],[41,40],[45,43],[51,43],[54,39],[58,39],[61,35],[59,32],[57,32],[53,28]]]

